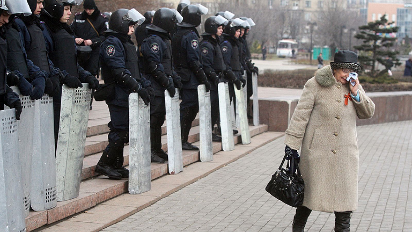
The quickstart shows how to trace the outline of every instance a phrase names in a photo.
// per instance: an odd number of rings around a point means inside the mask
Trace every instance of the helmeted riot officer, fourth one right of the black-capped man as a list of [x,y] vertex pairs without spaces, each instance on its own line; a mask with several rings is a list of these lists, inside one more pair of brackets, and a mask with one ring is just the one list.
[[[219,117],[218,84],[221,81],[220,77],[223,76],[223,71],[226,70],[219,43],[219,37],[223,33],[225,23],[227,23],[227,19],[220,15],[206,19],[204,23],[205,32],[202,34],[203,40],[200,42],[203,69],[211,83],[212,131]],[[212,133],[212,140],[220,142],[222,138]]]

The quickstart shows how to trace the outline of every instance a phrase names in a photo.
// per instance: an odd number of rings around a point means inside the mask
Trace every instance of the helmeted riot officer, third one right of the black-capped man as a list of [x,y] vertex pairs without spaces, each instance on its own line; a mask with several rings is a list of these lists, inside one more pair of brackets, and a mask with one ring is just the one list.
[[178,23],[179,29],[172,39],[173,64],[176,73],[181,77],[183,88],[180,92],[180,126],[183,150],[199,150],[187,142],[192,122],[199,112],[197,86],[206,85],[206,91],[211,84],[201,66],[199,49],[199,33],[196,27],[200,25],[201,15],[208,9],[200,4],[188,5],[182,10],[183,21]]

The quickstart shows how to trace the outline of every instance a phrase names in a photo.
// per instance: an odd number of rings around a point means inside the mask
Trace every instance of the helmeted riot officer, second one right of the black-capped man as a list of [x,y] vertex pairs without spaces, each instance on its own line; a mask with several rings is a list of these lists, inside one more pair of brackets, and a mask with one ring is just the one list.
[[141,53],[144,70],[155,89],[155,98],[150,102],[150,150],[153,163],[164,163],[168,156],[162,150],[162,125],[166,114],[164,91],[171,97],[182,87],[180,77],[173,70],[170,32],[183,17],[175,9],[160,8],[153,17],[153,24],[147,26],[148,36],[143,40]]

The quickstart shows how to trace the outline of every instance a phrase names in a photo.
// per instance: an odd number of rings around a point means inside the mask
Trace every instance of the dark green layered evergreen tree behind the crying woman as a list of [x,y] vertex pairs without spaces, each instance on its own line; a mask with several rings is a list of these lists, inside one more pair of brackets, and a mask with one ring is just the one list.
[[[399,52],[393,51],[396,37],[389,37],[391,33],[398,32],[398,27],[392,27],[393,22],[388,23],[386,16],[382,16],[379,20],[369,22],[368,25],[360,26],[360,33],[355,37],[363,40],[360,46],[354,46],[359,51],[359,63],[363,68],[370,68],[368,75],[371,77],[379,77],[387,73],[388,59],[393,61],[394,66],[400,65],[396,55]],[[384,70],[378,70],[376,62],[385,66]]]

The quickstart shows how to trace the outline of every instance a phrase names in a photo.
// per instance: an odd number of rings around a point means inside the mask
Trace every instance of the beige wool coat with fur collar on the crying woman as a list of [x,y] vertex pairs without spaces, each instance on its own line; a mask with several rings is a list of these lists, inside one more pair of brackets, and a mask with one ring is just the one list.
[[342,85],[330,66],[319,69],[302,92],[285,144],[300,152],[304,180],[303,206],[323,212],[358,207],[359,150],[356,118],[373,116],[375,103],[359,88],[360,102],[348,101],[349,83]]

